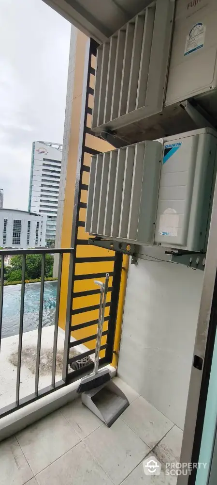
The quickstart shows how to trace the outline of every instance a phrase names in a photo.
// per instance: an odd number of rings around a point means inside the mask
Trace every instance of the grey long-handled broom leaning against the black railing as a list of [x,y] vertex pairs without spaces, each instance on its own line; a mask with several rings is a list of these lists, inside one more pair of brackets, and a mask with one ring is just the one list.
[[96,352],[95,352],[95,359],[94,359],[94,368],[93,372],[86,377],[83,377],[81,380],[80,385],[77,388],[77,392],[85,392],[89,391],[93,388],[98,388],[102,384],[110,381],[111,375],[108,369],[99,369],[99,359],[100,359],[100,347],[101,347],[101,334],[102,334],[102,326],[104,322],[104,313],[105,313],[105,302],[106,296],[108,292],[108,280],[109,280],[109,273],[105,275],[105,283],[101,283],[101,281],[94,281],[96,285],[100,286],[100,311],[99,311],[99,320],[98,320],[98,328],[97,328],[97,341],[96,341]]

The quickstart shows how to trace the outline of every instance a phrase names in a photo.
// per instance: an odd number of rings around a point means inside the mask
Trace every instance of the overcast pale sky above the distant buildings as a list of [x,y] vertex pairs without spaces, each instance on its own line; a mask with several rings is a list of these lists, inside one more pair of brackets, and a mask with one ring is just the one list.
[[0,188],[28,210],[31,147],[62,143],[71,24],[42,0],[0,0]]

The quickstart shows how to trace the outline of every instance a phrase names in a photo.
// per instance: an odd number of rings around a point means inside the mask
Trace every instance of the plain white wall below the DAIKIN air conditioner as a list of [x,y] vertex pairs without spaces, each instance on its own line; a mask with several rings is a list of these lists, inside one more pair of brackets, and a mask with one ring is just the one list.
[[203,272],[130,265],[118,375],[183,429]]

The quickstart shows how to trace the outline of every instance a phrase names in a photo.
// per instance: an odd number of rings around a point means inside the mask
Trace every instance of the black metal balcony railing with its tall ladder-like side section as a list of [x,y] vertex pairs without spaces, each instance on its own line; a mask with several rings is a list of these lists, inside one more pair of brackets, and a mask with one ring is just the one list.
[[[57,388],[63,387],[71,382],[75,381],[82,375],[87,375],[88,372],[93,370],[93,359],[95,354],[95,339],[96,339],[96,327],[98,323],[97,310],[98,305],[96,294],[99,295],[100,300],[100,290],[96,290],[94,286],[94,279],[102,279],[106,273],[110,274],[109,291],[108,291],[108,302],[107,314],[105,316],[105,328],[103,331],[103,341],[101,342],[101,358],[100,367],[110,364],[113,359],[114,353],[114,339],[115,339],[115,329],[116,329],[116,316],[118,307],[118,297],[121,281],[122,272],[122,258],[123,255],[118,251],[115,252],[112,249],[110,253],[105,251],[105,256],[98,257],[97,255],[92,255],[88,248],[87,234],[85,235],[85,222],[84,217],[81,220],[81,209],[83,211],[87,208],[87,202],[82,200],[85,197],[88,190],[88,184],[83,183],[83,173],[89,172],[89,167],[85,162],[85,157],[87,155],[90,157],[96,152],[91,146],[89,146],[89,138],[94,140],[94,133],[87,126],[87,115],[92,114],[92,108],[90,107],[89,97],[92,96],[93,90],[90,86],[90,77],[95,75],[95,68],[91,65],[95,64],[96,61],[96,48],[97,44],[94,40],[90,40],[88,65],[87,65],[87,85],[86,85],[86,99],[84,103],[84,113],[82,109],[81,115],[81,130],[83,129],[83,139],[82,145],[79,147],[79,157],[77,163],[77,173],[76,173],[76,183],[74,192],[74,213],[73,213],[73,224],[72,224],[72,235],[71,235],[71,246],[74,249],[31,249],[31,250],[0,250],[1,256],[1,279],[0,279],[0,336],[2,328],[2,309],[3,309],[3,275],[4,275],[4,256],[5,255],[23,255],[23,265],[22,265],[22,284],[21,284],[21,304],[20,304],[20,320],[19,320],[19,341],[18,341],[18,361],[17,361],[17,375],[16,375],[16,397],[15,402],[4,407],[0,410],[0,417],[15,409],[34,402],[36,399],[55,391]],[[95,61],[94,61],[95,60]],[[86,75],[85,74],[85,75]],[[81,131],[82,133],[82,131]],[[88,139],[87,136],[88,135]],[[84,215],[84,214],[83,214]],[[58,289],[57,289],[57,301],[56,301],[56,313],[55,313],[55,324],[54,324],[54,341],[52,350],[52,376],[51,385],[46,388],[39,389],[39,375],[40,375],[40,356],[41,356],[41,339],[42,339],[42,327],[43,327],[43,290],[44,290],[44,264],[46,254],[59,254],[59,265],[58,265]],[[58,320],[59,320],[59,296],[61,287],[61,272],[62,272],[62,258],[64,253],[70,253],[70,261],[67,261],[68,266],[68,287],[67,287],[67,298],[64,295],[65,301],[65,339],[64,339],[64,350],[63,354],[63,364],[62,364],[62,378],[61,380],[56,380],[56,364],[57,364],[57,342],[58,342]],[[40,291],[40,305],[39,305],[39,319],[38,319],[38,338],[37,338],[37,352],[36,352],[36,365],[35,365],[35,389],[31,395],[24,398],[20,398],[20,370],[22,362],[22,340],[23,340],[23,315],[25,314],[24,308],[24,297],[25,297],[25,265],[26,265],[26,255],[28,254],[42,254],[42,279],[41,279],[41,291]],[[82,255],[82,257],[80,257]],[[108,268],[105,268],[105,262],[108,263]],[[101,264],[100,264],[101,263]],[[89,273],[89,265],[96,264],[94,268],[94,273]],[[82,268],[82,270],[81,270]],[[64,273],[64,278],[67,275]],[[79,290],[76,289],[77,282],[80,282]],[[86,284],[88,282],[88,284]],[[61,291],[62,297],[63,291]],[[77,303],[81,297],[88,296],[86,300],[87,305],[84,303],[84,307],[77,309],[80,305]],[[93,296],[93,302],[91,301]],[[64,306],[64,303],[63,303]],[[62,307],[62,303],[61,303]],[[64,309],[64,308],[63,308]],[[94,312],[94,315],[92,314]],[[81,314],[81,317],[77,319],[77,314]],[[92,328],[92,334],[90,333],[90,328]],[[87,333],[86,333],[87,329]],[[74,332],[81,330],[78,339],[75,340],[74,336],[77,334]],[[76,342],[76,343],[75,343]],[[88,343],[89,342],[89,343]],[[84,344],[87,344],[84,345]],[[84,345],[84,347],[76,349],[76,346]],[[75,351],[75,352],[72,352]],[[82,350],[80,352],[80,350]],[[90,356],[92,358],[90,358]],[[1,369],[0,369],[1,372]]]

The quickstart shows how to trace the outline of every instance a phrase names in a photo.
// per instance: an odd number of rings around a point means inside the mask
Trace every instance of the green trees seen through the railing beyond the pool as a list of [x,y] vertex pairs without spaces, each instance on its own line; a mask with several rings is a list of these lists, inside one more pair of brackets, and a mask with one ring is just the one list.
[[[6,278],[8,281],[18,281],[19,279],[21,279],[22,264],[23,264],[22,255],[13,256],[11,258],[11,265],[10,267],[7,268],[7,275],[6,275]],[[54,265],[54,257],[51,254],[46,254],[45,256],[45,276],[46,277],[52,277],[53,265]],[[42,255],[28,254],[26,257],[26,279],[40,278],[41,271],[42,271]],[[17,277],[14,278],[15,275],[18,275],[18,273],[15,273],[15,272],[20,272],[19,278]]]

